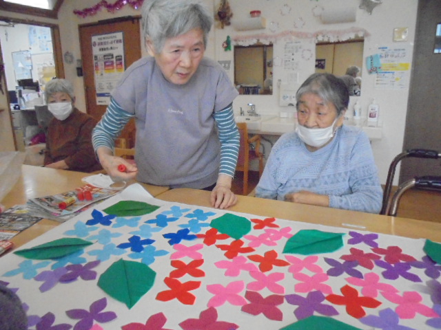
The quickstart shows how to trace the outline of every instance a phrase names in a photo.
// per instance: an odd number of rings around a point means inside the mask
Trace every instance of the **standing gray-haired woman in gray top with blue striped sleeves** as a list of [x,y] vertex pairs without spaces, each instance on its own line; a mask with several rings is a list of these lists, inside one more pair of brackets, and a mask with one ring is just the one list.
[[[142,17],[150,56],[132,64],[112,91],[93,133],[96,154],[112,177],[212,190],[212,205],[228,208],[236,203],[231,184],[239,135],[232,102],[238,92],[220,65],[204,58],[212,13],[197,0],[149,0]],[[136,166],[112,153],[132,117]]]

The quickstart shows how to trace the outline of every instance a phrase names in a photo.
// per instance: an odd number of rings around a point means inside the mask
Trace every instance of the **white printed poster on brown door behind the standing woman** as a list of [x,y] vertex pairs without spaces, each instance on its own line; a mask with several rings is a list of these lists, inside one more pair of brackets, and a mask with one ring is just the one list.
[[92,36],[96,104],[110,104],[110,92],[125,70],[123,32]]

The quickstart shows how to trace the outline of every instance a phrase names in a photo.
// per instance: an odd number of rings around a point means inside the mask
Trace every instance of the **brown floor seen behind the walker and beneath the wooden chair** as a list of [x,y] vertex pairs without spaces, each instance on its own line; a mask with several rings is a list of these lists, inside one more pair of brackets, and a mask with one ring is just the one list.
[[[248,175],[248,192],[252,192],[258,184],[258,172],[250,171]],[[236,172],[232,190],[242,195],[243,173]],[[392,188],[392,193],[396,190]],[[411,189],[404,192],[398,204],[398,217],[441,222],[441,192]]]

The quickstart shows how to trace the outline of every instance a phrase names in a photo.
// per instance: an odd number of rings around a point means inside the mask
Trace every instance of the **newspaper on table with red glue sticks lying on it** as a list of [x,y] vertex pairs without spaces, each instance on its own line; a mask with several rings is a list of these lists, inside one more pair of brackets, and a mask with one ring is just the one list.
[[[83,199],[80,201],[77,198],[78,193],[85,192],[86,190],[89,190],[92,193],[92,200],[89,201]],[[84,186],[68,192],[62,192],[61,194],[31,198],[28,200],[26,206],[34,215],[63,222],[75,217],[79,212],[87,210],[92,204],[113,196],[117,192],[119,192],[119,190],[99,188],[90,184],[85,184]],[[59,208],[59,203],[70,197],[74,197],[76,201],[64,210],[61,210]]]

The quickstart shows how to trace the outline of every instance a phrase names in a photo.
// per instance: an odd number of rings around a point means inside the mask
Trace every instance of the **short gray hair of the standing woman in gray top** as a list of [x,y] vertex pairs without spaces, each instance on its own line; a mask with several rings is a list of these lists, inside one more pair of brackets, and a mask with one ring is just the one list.
[[204,46],[213,25],[212,12],[201,0],[146,0],[141,8],[143,34],[150,38],[155,52],[161,52],[166,39],[199,28]]

